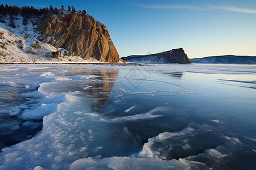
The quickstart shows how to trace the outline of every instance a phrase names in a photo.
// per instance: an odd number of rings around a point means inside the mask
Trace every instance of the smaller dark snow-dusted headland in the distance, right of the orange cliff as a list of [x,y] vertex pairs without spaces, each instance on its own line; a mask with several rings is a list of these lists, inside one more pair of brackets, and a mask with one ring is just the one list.
[[150,54],[145,56],[128,56],[122,57],[126,62],[136,63],[191,63],[187,54],[185,54],[182,48],[172,49],[167,52]]

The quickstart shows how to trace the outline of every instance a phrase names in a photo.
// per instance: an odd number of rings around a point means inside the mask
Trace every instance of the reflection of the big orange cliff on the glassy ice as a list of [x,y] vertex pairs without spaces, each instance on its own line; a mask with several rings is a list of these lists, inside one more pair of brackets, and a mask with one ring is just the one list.
[[[113,103],[110,101],[110,92],[114,86],[114,82],[117,79],[119,70],[114,69],[85,69],[76,67],[68,67],[67,71],[61,73],[61,76],[77,76],[77,75],[92,75],[93,78],[89,81],[76,82],[74,86],[73,82],[66,82],[65,88],[71,91],[76,91],[80,88],[80,91],[85,92],[86,97],[96,100],[92,105],[92,110],[100,114],[101,116],[109,116],[109,113],[113,110]],[[61,90],[60,84],[55,91]],[[51,87],[53,89],[53,87]],[[110,104],[111,103],[111,104]],[[111,111],[110,111],[111,110]]]

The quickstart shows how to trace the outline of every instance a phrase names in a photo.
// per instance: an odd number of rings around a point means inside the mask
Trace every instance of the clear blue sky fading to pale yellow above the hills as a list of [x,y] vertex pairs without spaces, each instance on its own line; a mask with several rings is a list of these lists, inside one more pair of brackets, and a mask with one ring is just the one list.
[[64,5],[104,23],[119,56],[183,48],[189,58],[256,56],[256,0],[0,1],[36,8]]

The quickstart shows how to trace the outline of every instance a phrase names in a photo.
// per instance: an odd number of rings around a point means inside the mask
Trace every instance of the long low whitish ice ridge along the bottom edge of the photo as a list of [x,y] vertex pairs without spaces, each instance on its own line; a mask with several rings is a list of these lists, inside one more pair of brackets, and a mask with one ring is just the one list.
[[204,163],[189,160],[159,160],[150,158],[112,157],[104,159],[84,158],[76,160],[70,169],[205,169]]

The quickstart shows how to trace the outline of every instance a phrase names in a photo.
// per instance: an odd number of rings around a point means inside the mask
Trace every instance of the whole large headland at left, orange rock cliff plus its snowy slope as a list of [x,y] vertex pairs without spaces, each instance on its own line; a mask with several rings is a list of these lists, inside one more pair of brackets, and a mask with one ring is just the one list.
[[0,12],[0,63],[123,63],[108,29],[92,16],[17,10]]

